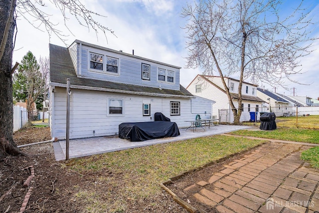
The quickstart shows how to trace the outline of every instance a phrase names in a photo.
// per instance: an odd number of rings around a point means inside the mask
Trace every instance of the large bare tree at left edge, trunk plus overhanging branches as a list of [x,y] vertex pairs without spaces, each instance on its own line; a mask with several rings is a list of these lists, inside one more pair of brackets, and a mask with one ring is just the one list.
[[[114,34],[113,30],[96,21],[96,16],[103,16],[85,7],[80,0],[50,0],[61,11],[67,26],[67,14],[75,16],[80,25],[89,29]],[[41,21],[49,36],[52,34],[65,41],[65,34],[50,21],[49,14],[41,10],[42,0],[0,0],[0,158],[21,153],[13,142],[13,99],[12,99],[12,52],[16,15],[24,17],[32,25],[33,20]],[[47,5],[45,5],[47,6]],[[104,16],[105,17],[105,16]],[[35,26],[37,27],[37,26]]]

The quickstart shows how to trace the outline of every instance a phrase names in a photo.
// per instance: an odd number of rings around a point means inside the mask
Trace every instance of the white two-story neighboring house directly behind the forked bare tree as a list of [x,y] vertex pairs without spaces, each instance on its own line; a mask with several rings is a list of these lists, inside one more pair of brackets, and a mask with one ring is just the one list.
[[[233,103],[238,108],[238,85],[239,80],[225,77],[226,84],[233,98]],[[227,98],[226,91],[220,76],[197,75],[186,88],[193,95],[215,101],[212,116],[220,119],[220,122],[234,121],[233,113]],[[243,82],[242,84],[242,106],[240,121],[249,121],[250,112],[259,111],[264,101],[257,97],[257,85]],[[258,115],[259,116],[259,115]]]

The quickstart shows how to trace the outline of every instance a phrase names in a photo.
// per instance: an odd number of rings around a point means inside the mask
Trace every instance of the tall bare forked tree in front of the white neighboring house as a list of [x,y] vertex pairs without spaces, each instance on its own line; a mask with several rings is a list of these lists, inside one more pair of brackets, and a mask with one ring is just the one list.
[[187,4],[181,16],[188,19],[187,68],[202,67],[203,74],[217,71],[239,124],[237,110],[224,77],[239,76],[238,106],[242,83],[283,85],[301,73],[300,59],[312,52],[309,12],[300,4],[291,15],[280,17],[280,0],[205,0]]

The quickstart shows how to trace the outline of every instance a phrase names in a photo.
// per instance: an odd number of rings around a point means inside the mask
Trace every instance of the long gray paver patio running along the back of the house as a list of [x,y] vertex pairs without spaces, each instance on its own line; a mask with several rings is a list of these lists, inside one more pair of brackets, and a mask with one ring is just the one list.
[[[160,138],[141,142],[131,142],[129,140],[121,139],[118,136],[71,139],[69,144],[69,158],[78,158],[107,152],[115,152],[119,150],[150,146],[154,144],[169,143],[173,141],[223,134],[247,128],[250,127],[234,125],[215,125],[211,126],[210,128],[206,127],[205,131],[200,128],[195,130],[194,132],[193,129],[188,129],[187,131],[185,131],[185,129],[179,129],[180,135],[177,137]],[[57,161],[65,160],[65,140],[53,142],[53,149],[55,159]]]

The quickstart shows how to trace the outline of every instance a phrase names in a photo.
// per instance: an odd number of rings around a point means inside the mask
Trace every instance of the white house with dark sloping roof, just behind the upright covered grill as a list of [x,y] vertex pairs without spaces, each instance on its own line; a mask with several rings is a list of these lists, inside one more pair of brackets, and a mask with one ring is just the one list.
[[272,93],[268,90],[257,88],[257,96],[266,100],[263,104],[263,111],[265,112],[275,112],[277,117],[289,116],[291,113],[291,107],[293,106],[289,101]]

